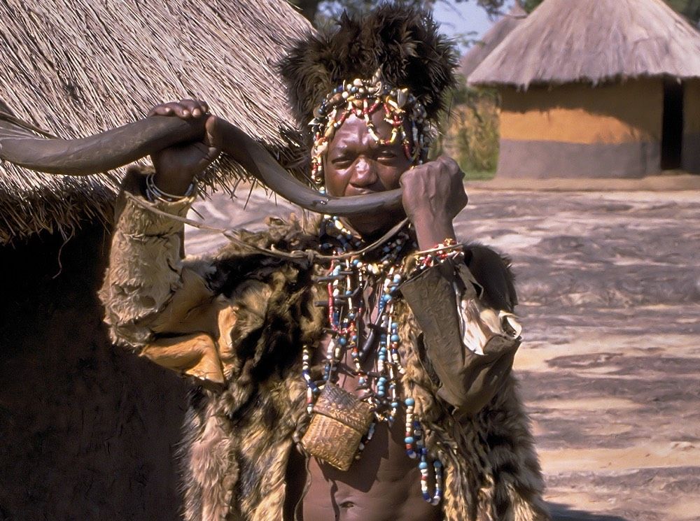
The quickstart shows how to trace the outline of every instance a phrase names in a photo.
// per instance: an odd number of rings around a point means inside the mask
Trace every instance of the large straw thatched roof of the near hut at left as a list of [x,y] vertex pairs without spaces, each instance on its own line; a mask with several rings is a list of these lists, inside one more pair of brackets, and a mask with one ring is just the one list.
[[[22,120],[76,138],[197,97],[281,162],[302,153],[274,64],[311,27],[284,0],[0,2],[0,20],[0,100]],[[223,166],[210,183],[230,188],[234,167]],[[107,222],[119,178],[0,164],[0,244]]]

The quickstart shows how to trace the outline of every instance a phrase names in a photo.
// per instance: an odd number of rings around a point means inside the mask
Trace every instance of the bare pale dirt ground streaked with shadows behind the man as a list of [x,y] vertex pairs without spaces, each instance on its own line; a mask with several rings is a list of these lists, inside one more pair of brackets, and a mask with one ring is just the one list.
[[[515,368],[554,519],[700,520],[700,193],[469,193],[458,236],[517,274]],[[197,211],[255,227],[290,210],[246,195]],[[187,234],[192,253],[225,242]]]

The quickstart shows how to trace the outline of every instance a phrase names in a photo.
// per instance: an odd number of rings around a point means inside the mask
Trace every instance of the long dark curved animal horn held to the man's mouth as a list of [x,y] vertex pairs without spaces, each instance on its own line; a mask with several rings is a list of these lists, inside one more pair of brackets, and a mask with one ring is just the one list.
[[[398,208],[401,190],[333,197],[304,185],[285,171],[260,143],[225,120],[217,119],[222,150],[284,199],[318,213],[360,215]],[[36,132],[48,138],[36,136]],[[202,136],[202,120],[153,116],[87,138],[52,138],[7,114],[0,114],[0,157],[26,169],[87,176],[105,172],[176,143]]]

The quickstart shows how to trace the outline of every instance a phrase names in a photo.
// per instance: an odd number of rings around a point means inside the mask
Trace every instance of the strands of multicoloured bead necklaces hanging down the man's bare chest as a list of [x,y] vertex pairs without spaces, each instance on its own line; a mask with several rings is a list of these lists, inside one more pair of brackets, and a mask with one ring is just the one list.
[[[362,242],[353,236],[338,217],[325,216],[320,229],[321,248],[333,250],[335,255],[358,250]],[[328,332],[331,339],[325,354],[325,365],[321,382],[314,381],[311,376],[311,352],[304,348],[302,356],[302,376],[307,383],[307,411],[313,410],[319,390],[319,385],[335,383],[338,379],[338,368],[346,354],[350,353],[353,369],[358,377],[358,391],[363,394],[360,399],[367,401],[374,408],[375,420],[360,443],[360,452],[365,443],[370,441],[376,422],[387,422],[390,426],[398,415],[400,401],[400,376],[404,373],[399,355],[400,336],[396,317],[395,302],[398,298],[398,287],[405,278],[402,270],[402,260],[409,250],[414,250],[407,228],[401,229],[394,238],[379,246],[370,255],[358,255],[331,263],[328,273],[318,281],[325,283],[328,292]],[[365,258],[367,257],[367,258]],[[367,315],[365,290],[372,283],[381,281],[381,295],[377,302],[377,314],[372,322],[365,325],[367,334],[362,330],[363,316]],[[363,341],[363,336],[365,340]],[[365,361],[368,360],[375,343],[378,348],[374,351],[375,359],[372,370],[365,371]],[[423,427],[419,417],[414,413],[415,400],[406,397],[405,406],[405,448],[409,457],[419,460],[421,472],[421,492],[423,499],[437,505],[442,498],[442,463],[440,459],[433,461],[435,473],[435,490],[430,494],[428,487],[429,465],[428,449],[426,448]]]

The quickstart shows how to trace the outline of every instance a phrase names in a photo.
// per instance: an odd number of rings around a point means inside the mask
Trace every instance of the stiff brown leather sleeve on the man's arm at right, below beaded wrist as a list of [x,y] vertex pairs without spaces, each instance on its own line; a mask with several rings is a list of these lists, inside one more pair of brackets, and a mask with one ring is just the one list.
[[423,331],[423,365],[437,396],[458,415],[479,412],[512,369],[521,327],[512,313],[485,307],[463,262],[448,259],[401,287]]

